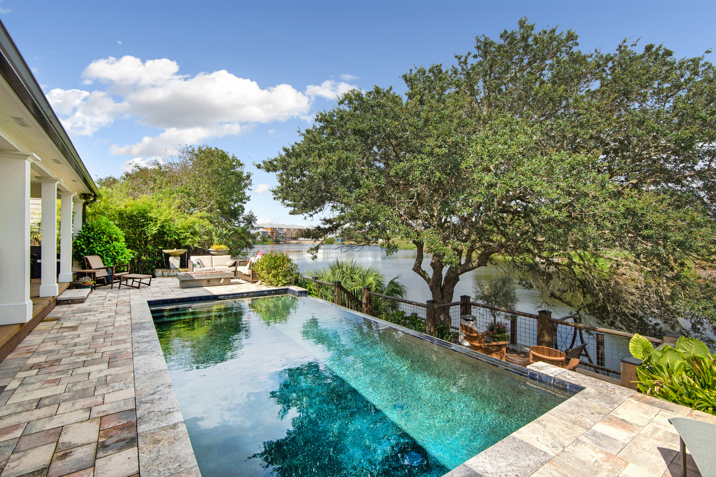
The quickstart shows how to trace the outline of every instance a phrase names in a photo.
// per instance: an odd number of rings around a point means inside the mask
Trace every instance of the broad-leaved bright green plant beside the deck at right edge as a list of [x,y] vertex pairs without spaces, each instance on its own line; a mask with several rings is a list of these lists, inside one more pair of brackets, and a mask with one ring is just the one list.
[[716,413],[716,356],[696,338],[680,337],[676,347],[656,349],[638,334],[629,351],[642,360],[637,367],[639,391],[705,413]]

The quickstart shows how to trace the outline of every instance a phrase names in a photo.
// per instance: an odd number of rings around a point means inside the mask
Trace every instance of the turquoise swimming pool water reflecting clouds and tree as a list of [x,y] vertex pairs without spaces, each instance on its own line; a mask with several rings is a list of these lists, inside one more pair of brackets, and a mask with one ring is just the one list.
[[569,397],[316,298],[153,316],[204,477],[440,477]]

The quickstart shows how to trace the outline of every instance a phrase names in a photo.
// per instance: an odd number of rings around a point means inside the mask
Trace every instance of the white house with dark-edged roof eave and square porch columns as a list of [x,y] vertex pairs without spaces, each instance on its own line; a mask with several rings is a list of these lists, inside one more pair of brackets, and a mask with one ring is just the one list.
[[[82,227],[79,194],[97,196],[42,89],[0,22],[0,325],[32,319],[30,199],[42,199],[39,296],[57,296],[72,281],[72,236]],[[57,199],[60,260],[57,276]]]

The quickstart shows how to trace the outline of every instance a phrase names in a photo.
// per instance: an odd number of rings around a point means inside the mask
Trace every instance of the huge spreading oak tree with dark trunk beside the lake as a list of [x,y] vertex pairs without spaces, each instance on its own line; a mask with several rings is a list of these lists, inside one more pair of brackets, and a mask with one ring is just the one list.
[[713,66],[577,39],[526,19],[478,36],[453,66],[403,75],[405,95],[347,92],[261,168],[291,214],[324,217],[316,238],[415,243],[440,303],[502,258],[604,325],[710,339],[714,287],[696,271],[715,258]]

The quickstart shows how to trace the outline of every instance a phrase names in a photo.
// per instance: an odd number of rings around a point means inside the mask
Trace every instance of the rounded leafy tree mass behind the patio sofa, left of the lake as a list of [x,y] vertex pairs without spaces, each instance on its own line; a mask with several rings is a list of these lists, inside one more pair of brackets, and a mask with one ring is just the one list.
[[107,216],[124,231],[137,254],[134,266],[151,273],[162,250],[213,243],[226,229],[230,253],[251,247],[255,217],[246,213],[251,174],[233,154],[211,146],[185,146],[154,166],[136,165],[119,178],[100,179],[100,199],[89,218]]

